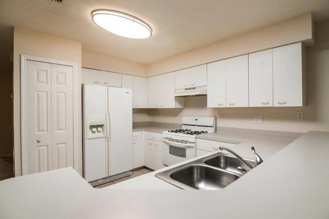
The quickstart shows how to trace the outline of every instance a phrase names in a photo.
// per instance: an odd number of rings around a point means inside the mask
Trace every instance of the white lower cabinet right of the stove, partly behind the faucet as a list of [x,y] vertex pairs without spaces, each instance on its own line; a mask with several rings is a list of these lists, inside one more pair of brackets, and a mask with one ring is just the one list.
[[[196,139],[196,156],[202,156],[210,152],[220,152],[220,147],[230,148],[231,146],[236,145],[227,142],[217,142],[204,139]],[[225,151],[224,151],[225,152]]]

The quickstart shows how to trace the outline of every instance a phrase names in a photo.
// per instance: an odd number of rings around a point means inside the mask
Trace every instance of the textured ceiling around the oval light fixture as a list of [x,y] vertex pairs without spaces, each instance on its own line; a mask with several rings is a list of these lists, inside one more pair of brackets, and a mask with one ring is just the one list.
[[[96,9],[132,14],[152,27],[152,36],[109,33],[93,23]],[[329,0],[1,0],[0,26],[72,39],[83,50],[149,64],[311,11],[316,21],[329,18]]]

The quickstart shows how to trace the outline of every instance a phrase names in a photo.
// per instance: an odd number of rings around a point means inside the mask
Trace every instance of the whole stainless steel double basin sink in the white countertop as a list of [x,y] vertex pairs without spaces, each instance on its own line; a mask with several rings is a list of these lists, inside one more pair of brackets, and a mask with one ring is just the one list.
[[[255,161],[243,158],[252,167]],[[237,167],[250,168],[232,155],[218,152],[193,162],[157,173],[155,176],[181,189],[223,189],[243,174]]]

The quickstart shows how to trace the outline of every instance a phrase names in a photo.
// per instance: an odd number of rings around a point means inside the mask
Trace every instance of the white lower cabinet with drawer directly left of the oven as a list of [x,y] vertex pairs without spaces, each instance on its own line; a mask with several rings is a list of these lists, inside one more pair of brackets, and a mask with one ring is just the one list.
[[162,163],[162,134],[145,132],[144,166],[158,170],[165,167]]

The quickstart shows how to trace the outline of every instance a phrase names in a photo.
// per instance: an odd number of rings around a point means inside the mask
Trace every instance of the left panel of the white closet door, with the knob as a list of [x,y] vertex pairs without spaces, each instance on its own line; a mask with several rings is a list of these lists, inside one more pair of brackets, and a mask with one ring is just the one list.
[[52,169],[51,64],[26,62],[27,174]]

